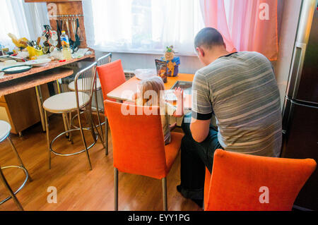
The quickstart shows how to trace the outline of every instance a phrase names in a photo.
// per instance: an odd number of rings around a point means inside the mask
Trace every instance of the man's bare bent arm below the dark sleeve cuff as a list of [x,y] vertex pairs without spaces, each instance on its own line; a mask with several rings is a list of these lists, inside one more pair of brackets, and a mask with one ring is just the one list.
[[190,130],[192,133],[192,138],[196,142],[201,143],[204,140],[206,140],[206,137],[208,137],[208,133],[210,131],[210,123],[211,123],[211,119],[206,121],[200,121],[192,117]]

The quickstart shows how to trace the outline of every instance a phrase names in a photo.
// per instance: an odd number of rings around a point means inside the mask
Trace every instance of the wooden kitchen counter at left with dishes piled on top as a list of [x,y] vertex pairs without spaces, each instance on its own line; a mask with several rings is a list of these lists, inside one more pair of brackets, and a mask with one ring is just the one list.
[[76,61],[82,61],[84,59],[95,60],[95,54],[90,54],[83,56],[78,59],[70,59],[64,62],[52,61],[47,66],[34,67],[30,71],[24,73],[15,73],[11,75],[1,75],[0,76],[0,97],[4,95],[9,95],[14,92],[19,92],[21,90],[27,90],[31,87],[35,87],[35,92],[37,95],[37,104],[40,111],[40,118],[42,123],[42,129],[45,131],[45,118],[42,109],[42,92],[40,85],[49,83],[52,81],[57,81],[58,92],[61,92],[58,80],[61,78],[66,78],[73,74],[73,70],[69,68],[59,68],[60,66],[67,65],[69,63],[74,63]]

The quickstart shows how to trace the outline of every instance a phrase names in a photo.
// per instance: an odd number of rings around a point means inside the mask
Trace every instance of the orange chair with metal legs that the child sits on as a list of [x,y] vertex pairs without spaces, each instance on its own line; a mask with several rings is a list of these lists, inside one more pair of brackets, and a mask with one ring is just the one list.
[[[183,134],[171,133],[172,142],[165,145],[158,107],[139,107],[106,100],[105,109],[112,131],[114,209],[118,210],[118,171],[121,171],[162,179],[163,209],[167,210],[166,176],[175,162]],[[134,115],[125,116],[122,109],[130,109]],[[147,116],[146,110],[151,109],[158,114]]]

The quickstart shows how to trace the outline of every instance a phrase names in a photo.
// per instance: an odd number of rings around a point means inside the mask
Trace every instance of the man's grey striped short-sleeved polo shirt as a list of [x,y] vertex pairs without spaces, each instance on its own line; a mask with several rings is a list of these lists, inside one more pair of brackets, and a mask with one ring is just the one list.
[[271,62],[241,51],[222,56],[196,72],[192,117],[216,116],[224,150],[278,157],[281,152],[281,99]]

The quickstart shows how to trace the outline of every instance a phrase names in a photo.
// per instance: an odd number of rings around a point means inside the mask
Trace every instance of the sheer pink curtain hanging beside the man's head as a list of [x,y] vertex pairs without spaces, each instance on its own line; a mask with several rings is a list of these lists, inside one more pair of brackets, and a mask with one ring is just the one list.
[[278,56],[277,0],[200,0],[206,27],[218,29],[237,51]]

